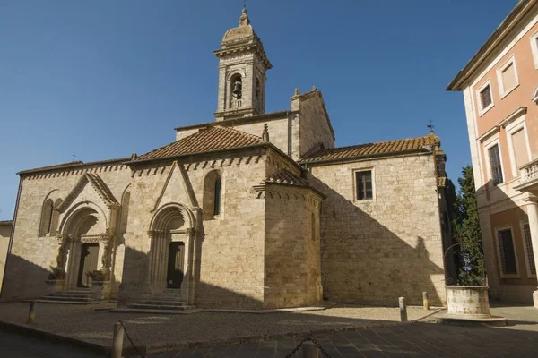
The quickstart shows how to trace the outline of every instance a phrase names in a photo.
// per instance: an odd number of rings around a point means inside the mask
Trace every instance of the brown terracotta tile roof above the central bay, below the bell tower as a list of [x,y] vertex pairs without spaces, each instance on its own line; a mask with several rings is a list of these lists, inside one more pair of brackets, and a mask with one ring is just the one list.
[[233,149],[261,143],[262,139],[256,135],[239,132],[235,129],[213,126],[201,129],[179,141],[167,146],[154,149],[136,160],[174,157],[183,154],[202,153],[219,149]]

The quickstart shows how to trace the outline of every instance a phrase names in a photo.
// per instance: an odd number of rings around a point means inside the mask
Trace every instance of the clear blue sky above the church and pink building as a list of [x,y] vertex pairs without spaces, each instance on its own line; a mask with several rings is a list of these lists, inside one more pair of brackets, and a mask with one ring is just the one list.
[[[242,0],[0,0],[0,219],[16,172],[142,154],[213,121],[217,59]],[[426,135],[448,174],[470,164],[461,92],[447,83],[516,0],[249,0],[265,45],[267,112],[322,90],[338,146]]]

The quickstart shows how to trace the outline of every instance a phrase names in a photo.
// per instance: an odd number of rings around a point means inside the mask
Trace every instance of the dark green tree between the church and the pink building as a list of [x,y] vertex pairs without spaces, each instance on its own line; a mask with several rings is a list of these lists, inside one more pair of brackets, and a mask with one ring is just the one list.
[[451,210],[452,230],[456,242],[459,243],[455,250],[456,282],[458,285],[484,285],[486,270],[473,167],[465,166],[457,182],[460,189]]

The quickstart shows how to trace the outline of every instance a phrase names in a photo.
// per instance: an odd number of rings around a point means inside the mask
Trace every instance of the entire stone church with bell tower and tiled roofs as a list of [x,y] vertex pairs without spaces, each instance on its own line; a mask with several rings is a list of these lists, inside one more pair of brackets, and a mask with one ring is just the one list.
[[445,303],[439,138],[337,148],[316,88],[265,113],[272,64],[246,9],[214,55],[213,122],[143,155],[19,173],[1,299]]

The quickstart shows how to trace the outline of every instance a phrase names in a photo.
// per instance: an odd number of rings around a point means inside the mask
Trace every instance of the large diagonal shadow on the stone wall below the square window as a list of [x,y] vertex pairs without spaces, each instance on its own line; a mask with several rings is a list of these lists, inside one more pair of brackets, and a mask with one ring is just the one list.
[[421,304],[425,291],[432,304],[446,301],[444,268],[430,260],[433,253],[443,255],[441,237],[438,251],[429,252],[429,238],[417,232],[413,247],[316,177],[308,175],[308,182],[326,196],[321,215],[325,300],[397,304],[405,296],[407,303]]

